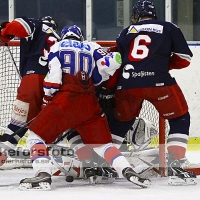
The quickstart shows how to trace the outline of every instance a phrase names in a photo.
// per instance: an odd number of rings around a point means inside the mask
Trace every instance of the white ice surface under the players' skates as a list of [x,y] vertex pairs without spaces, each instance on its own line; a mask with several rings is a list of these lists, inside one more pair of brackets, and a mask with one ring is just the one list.
[[[200,163],[200,152],[187,152],[190,162]],[[32,169],[0,170],[2,200],[192,200],[200,197],[200,176],[194,186],[169,186],[167,177],[151,178],[142,189],[126,180],[112,184],[88,185],[85,180],[67,183],[64,176],[53,177],[51,191],[20,191],[22,178],[34,176]]]

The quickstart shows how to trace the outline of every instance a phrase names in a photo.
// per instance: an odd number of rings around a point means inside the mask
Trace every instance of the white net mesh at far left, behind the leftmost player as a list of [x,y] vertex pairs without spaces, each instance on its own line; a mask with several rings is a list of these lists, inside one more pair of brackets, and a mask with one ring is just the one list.
[[0,46],[0,126],[7,126],[11,119],[13,102],[19,86],[19,77],[10,59],[10,49],[16,65],[19,66],[19,46]]

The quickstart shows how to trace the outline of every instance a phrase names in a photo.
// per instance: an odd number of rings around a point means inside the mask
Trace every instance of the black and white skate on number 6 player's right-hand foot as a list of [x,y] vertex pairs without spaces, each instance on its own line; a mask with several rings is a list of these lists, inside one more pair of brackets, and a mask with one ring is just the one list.
[[196,174],[184,170],[180,160],[174,160],[168,168],[169,185],[196,185]]

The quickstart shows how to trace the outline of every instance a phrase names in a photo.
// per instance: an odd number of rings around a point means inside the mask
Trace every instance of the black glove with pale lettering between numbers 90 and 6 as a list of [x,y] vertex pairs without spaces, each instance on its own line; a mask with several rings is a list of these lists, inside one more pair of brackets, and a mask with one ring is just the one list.
[[115,89],[102,87],[98,92],[99,104],[104,113],[112,110],[115,106]]

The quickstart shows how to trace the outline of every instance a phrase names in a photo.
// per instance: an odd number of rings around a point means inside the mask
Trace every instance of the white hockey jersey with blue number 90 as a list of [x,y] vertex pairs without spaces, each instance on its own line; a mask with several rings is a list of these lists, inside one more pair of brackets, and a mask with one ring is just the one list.
[[62,85],[62,74],[76,76],[85,71],[95,86],[109,79],[121,66],[118,52],[107,53],[95,42],[65,39],[52,46],[49,56],[49,72],[44,79],[46,96],[54,96]]

